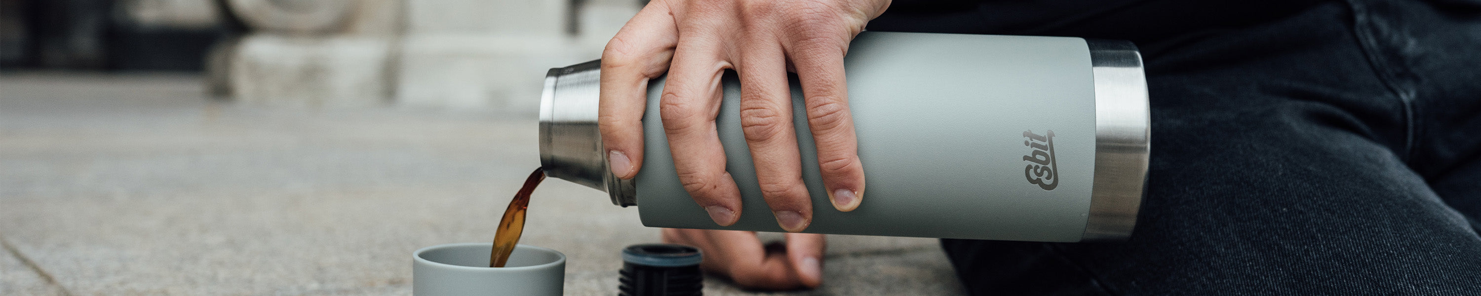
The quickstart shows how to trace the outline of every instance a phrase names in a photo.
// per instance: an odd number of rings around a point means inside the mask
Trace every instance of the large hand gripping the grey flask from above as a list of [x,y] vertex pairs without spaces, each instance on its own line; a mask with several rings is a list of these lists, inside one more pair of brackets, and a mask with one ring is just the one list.
[[859,207],[863,164],[849,112],[843,58],[865,22],[890,0],[653,0],[601,53],[598,124],[609,167],[622,179],[643,164],[643,110],[650,78],[668,73],[659,112],[678,179],[709,218],[732,225],[740,191],[715,133],[720,77],[740,75],[740,124],[761,195],[778,223],[803,231],[813,207],[801,178],[786,71],[807,102],[823,186],[834,207]]

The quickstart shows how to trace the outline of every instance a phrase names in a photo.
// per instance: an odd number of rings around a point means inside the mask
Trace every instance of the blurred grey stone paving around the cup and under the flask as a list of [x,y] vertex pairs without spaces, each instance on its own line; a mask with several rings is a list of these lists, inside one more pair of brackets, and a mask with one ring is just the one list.
[[[0,295],[410,295],[418,247],[487,241],[539,164],[533,114],[277,110],[190,75],[0,75]],[[541,186],[521,243],[615,295],[635,209]],[[935,240],[829,238],[825,287],[960,295]],[[709,278],[706,295],[748,295]]]

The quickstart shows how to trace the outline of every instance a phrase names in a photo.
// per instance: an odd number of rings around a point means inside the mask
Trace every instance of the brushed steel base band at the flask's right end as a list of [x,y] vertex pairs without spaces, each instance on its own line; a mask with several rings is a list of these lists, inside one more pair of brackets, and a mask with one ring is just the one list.
[[1081,240],[1126,240],[1136,228],[1151,154],[1146,74],[1131,41],[1086,44],[1096,87],[1096,172]]

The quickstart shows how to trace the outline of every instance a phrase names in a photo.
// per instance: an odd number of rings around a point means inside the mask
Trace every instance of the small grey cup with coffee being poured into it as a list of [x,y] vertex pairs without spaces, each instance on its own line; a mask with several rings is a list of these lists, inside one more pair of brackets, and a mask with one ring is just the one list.
[[558,296],[566,283],[566,255],[520,244],[502,268],[489,266],[493,243],[424,247],[412,253],[412,295]]

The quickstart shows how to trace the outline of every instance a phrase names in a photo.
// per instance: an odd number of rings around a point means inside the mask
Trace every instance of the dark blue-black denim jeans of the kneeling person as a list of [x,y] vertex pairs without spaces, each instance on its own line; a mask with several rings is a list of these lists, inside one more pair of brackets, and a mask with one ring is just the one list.
[[1330,1],[1139,46],[1136,232],[942,240],[972,295],[1481,295],[1481,1]]

